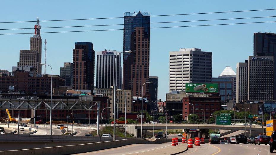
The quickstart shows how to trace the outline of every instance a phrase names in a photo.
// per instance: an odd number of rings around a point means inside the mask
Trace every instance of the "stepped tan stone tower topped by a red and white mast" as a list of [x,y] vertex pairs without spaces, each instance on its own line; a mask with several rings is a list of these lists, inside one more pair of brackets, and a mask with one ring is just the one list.
[[17,67],[33,66],[36,68],[36,74],[41,74],[41,45],[42,40],[40,37],[40,25],[37,18],[36,25],[34,26],[34,35],[30,39],[30,49],[20,50],[19,62],[17,62]]

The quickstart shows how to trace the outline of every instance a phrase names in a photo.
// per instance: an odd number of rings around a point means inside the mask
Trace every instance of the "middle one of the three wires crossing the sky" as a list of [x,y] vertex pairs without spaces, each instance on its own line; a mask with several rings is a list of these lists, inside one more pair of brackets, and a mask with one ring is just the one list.
[[[183,22],[200,22],[200,21],[216,21],[216,20],[236,20],[236,19],[253,19],[253,18],[269,18],[276,16],[264,16],[264,17],[245,17],[245,18],[226,18],[226,19],[209,19],[209,20],[188,20],[188,21],[173,21],[173,22],[155,22],[155,23],[143,23],[143,24],[161,24],[161,23],[183,23]],[[110,24],[110,25],[84,25],[84,26],[60,26],[60,27],[45,27],[45,28],[76,28],[76,27],[92,27],[92,26],[117,26],[124,24]],[[125,24],[125,25],[133,25]],[[22,29],[34,29],[34,28],[6,28],[0,30],[22,30]]]

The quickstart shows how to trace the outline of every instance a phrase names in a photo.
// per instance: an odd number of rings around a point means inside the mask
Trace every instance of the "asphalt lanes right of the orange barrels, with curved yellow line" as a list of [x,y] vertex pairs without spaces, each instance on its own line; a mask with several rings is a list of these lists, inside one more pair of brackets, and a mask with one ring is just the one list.
[[[276,153],[276,151],[275,151]],[[206,143],[200,146],[188,148],[187,151],[181,154],[204,154],[204,155],[267,155],[269,145],[254,145],[254,144],[210,144]],[[180,155],[181,155],[180,154]]]

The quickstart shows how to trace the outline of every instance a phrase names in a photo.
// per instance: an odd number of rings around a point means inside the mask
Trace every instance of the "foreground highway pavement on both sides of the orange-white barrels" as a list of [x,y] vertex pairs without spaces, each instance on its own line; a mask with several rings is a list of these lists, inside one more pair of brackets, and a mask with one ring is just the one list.
[[[118,148],[111,148],[93,152],[86,152],[77,155],[150,155],[150,154],[170,154],[169,148],[171,148],[171,143],[162,144],[134,144],[127,145]],[[275,151],[276,152],[276,151]],[[254,145],[254,144],[201,144],[200,146],[193,145],[193,148],[188,148],[187,151],[179,153],[179,155],[268,155],[269,145]]]

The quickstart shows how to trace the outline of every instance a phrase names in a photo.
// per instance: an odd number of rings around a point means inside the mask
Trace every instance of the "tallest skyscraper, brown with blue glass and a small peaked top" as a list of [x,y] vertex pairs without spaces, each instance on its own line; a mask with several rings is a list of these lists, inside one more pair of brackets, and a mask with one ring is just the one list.
[[[132,90],[133,96],[142,96],[142,86],[149,82],[149,31],[150,13],[124,14],[123,89]],[[143,87],[148,96],[149,86]]]

